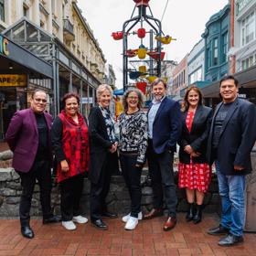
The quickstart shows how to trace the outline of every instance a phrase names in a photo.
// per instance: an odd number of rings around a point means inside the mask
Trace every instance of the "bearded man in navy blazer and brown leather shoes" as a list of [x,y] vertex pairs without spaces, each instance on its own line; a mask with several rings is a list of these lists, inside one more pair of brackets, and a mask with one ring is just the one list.
[[152,178],[154,208],[144,219],[163,215],[163,190],[168,218],[164,230],[176,226],[176,185],[173,160],[176,141],[181,133],[181,112],[178,102],[166,97],[165,80],[156,79],[152,83],[154,100],[148,112],[148,167]]

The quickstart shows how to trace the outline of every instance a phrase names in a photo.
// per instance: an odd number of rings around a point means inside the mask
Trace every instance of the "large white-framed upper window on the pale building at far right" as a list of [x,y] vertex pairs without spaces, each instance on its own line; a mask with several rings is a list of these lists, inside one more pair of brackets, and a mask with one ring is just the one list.
[[241,45],[249,44],[255,38],[255,14],[252,12],[241,21]]

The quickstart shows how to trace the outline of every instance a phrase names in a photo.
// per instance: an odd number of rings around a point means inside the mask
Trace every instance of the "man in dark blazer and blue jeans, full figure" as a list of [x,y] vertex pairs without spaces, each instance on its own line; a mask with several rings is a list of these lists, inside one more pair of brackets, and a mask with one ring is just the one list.
[[226,76],[219,83],[222,101],[216,107],[208,137],[208,161],[215,161],[221,197],[221,222],[210,235],[226,234],[220,246],[243,241],[245,176],[251,173],[251,149],[256,139],[256,111],[238,98],[238,80]]

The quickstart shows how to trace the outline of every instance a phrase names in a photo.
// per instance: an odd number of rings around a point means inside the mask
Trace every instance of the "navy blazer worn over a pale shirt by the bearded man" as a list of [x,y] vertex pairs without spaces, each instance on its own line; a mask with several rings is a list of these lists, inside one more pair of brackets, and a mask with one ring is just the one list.
[[176,152],[176,142],[180,133],[181,112],[179,103],[165,97],[156,112],[153,123],[153,147],[155,153],[162,154],[166,150]]

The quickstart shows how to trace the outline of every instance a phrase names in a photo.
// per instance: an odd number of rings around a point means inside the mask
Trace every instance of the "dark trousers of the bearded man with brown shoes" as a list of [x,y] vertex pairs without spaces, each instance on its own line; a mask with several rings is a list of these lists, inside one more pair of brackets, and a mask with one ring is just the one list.
[[156,154],[152,140],[149,140],[147,159],[152,179],[154,208],[163,208],[163,196],[165,195],[165,207],[168,209],[168,216],[176,217],[177,198],[173,169],[174,154],[169,151]]

